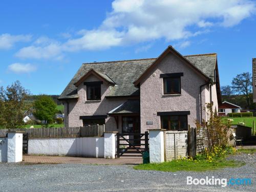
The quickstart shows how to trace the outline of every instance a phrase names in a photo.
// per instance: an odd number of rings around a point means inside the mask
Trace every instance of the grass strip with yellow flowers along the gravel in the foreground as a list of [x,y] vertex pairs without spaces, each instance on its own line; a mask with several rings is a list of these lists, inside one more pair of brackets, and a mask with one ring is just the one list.
[[245,163],[236,162],[236,161],[228,161],[228,160],[219,160],[214,162],[208,161],[184,161],[184,160],[173,160],[164,163],[149,163],[149,164],[139,164],[134,166],[135,169],[142,170],[160,170],[162,172],[178,172],[180,170],[185,171],[195,171],[195,172],[203,172],[205,170],[215,170],[219,168],[225,167],[237,167],[242,166]]

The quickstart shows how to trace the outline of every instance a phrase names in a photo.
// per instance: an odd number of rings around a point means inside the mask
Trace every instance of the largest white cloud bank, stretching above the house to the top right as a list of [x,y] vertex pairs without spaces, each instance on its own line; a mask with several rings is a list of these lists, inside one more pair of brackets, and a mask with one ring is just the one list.
[[44,44],[34,42],[16,56],[62,58],[63,52],[148,44],[156,39],[178,40],[185,48],[190,45],[189,37],[216,26],[238,25],[255,12],[256,2],[250,0],[115,0],[112,11],[98,28],[80,30],[79,37],[67,36],[69,39],[62,43],[49,39],[44,39]]

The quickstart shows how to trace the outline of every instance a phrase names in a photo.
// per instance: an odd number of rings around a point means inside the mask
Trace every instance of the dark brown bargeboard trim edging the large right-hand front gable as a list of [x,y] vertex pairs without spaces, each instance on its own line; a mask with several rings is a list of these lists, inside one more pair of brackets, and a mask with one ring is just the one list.
[[150,71],[152,69],[154,69],[159,63],[160,61],[163,60],[163,58],[168,54],[168,53],[173,53],[174,55],[178,56],[179,58],[181,58],[183,61],[185,61],[185,63],[187,63],[187,65],[189,67],[191,67],[193,70],[195,70],[202,78],[204,78],[206,81],[209,81],[209,77],[204,74],[199,68],[197,68],[195,65],[193,65],[188,59],[186,59],[186,57],[182,56],[178,51],[176,51],[172,46],[168,46],[168,48],[166,50],[164,50],[164,52],[152,63],[152,65],[150,67],[148,67],[146,69],[146,71],[144,71],[144,73],[142,73],[138,79],[136,79],[136,81],[134,81],[133,83],[135,84],[135,86],[138,86],[138,84],[140,83],[141,79],[143,77],[145,77],[145,75],[147,73],[150,73]]

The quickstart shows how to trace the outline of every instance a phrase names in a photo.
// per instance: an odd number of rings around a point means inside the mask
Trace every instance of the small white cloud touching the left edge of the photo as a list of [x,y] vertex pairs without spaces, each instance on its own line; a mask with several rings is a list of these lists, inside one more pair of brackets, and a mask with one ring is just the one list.
[[31,40],[31,35],[10,35],[8,33],[0,35],[0,49],[10,49],[16,42],[27,42]]

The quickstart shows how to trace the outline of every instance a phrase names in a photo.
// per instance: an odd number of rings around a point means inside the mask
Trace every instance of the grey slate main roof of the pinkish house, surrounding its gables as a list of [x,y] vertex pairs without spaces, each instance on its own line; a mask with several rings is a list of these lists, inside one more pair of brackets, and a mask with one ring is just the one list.
[[[217,54],[202,54],[202,55],[188,55],[184,56],[195,67],[202,71],[210,78],[214,78],[214,69],[217,60]],[[82,76],[88,73],[91,69],[97,71],[104,78],[116,83],[115,86],[110,87],[108,97],[112,96],[138,96],[139,89],[136,88],[133,82],[148,68],[156,58],[149,59],[135,59],[109,62],[93,62],[83,63],[75,76],[69,82],[68,86],[61,93],[59,99],[78,98],[77,88],[74,86]],[[106,77],[107,76],[107,77]]]

